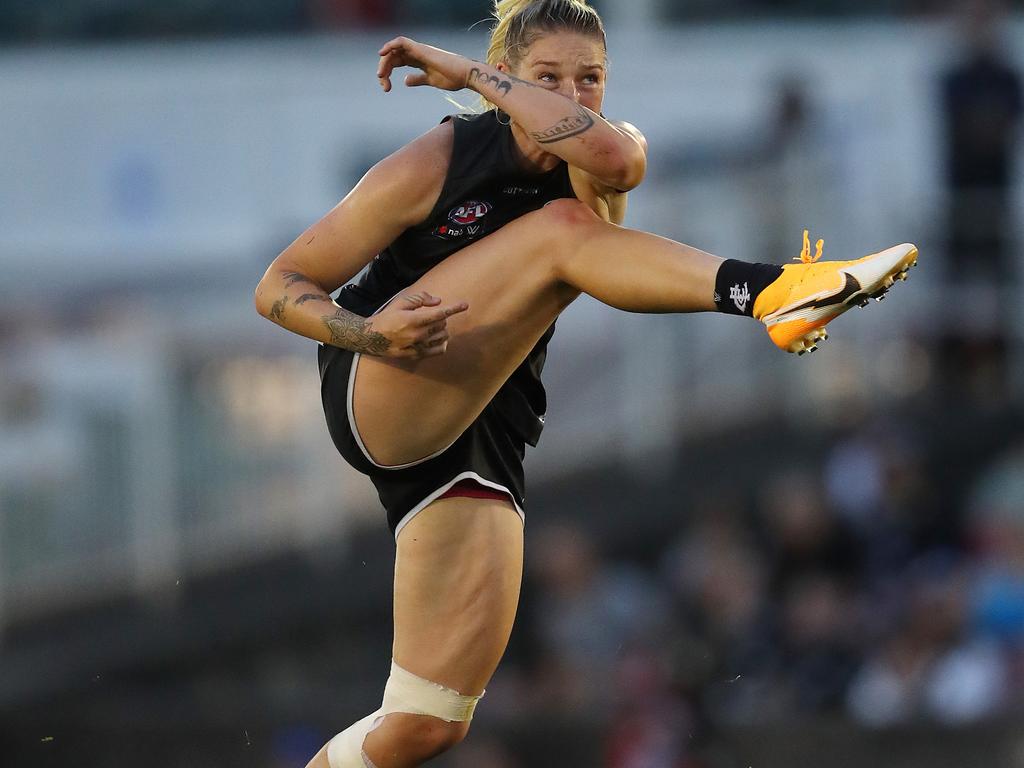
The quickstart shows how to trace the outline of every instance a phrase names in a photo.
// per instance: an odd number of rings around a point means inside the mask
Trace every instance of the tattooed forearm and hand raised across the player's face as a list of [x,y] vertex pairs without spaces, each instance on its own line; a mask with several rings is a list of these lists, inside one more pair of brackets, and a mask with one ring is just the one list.
[[391,89],[393,70],[415,67],[421,72],[408,75],[406,85],[476,91],[508,113],[546,151],[610,188],[626,191],[643,180],[647,156],[639,132],[614,125],[555,92],[557,85],[542,79],[543,72],[530,72],[536,80],[520,79],[406,37],[387,43],[380,54],[377,77],[385,91]]

